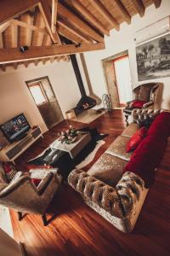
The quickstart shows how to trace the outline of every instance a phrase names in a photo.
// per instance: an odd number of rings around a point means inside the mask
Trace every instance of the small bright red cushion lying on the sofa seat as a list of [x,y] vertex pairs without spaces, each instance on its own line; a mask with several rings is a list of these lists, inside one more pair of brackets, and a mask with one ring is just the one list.
[[141,141],[145,137],[146,132],[147,128],[142,127],[133,134],[133,137],[131,137],[127,143],[127,153],[133,151],[139,146],[139,143],[141,143]]

